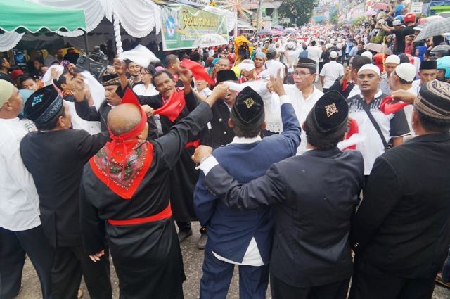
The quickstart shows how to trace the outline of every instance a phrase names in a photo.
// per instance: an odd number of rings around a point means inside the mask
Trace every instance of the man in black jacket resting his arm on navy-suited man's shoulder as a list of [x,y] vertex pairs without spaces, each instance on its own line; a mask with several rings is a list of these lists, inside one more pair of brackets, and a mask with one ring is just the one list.
[[[273,205],[271,290],[275,299],[347,298],[353,274],[348,241],[350,218],[363,186],[363,158],[336,147],[347,132],[348,106],[337,91],[324,94],[303,128],[309,151],[275,163],[263,177],[240,184],[210,155],[203,184],[230,208]],[[209,156],[208,156],[209,155]]]

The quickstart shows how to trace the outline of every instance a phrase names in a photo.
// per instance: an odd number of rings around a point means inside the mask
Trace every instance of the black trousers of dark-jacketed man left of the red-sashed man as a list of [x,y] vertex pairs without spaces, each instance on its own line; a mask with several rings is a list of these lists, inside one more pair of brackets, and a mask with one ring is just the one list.
[[53,298],[75,299],[79,285],[84,282],[91,299],[111,299],[109,254],[93,262],[82,246],[57,247],[53,265]]

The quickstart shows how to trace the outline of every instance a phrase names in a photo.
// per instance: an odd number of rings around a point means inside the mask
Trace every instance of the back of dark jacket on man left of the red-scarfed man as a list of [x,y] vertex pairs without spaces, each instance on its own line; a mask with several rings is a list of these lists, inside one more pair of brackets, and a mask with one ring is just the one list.
[[79,182],[84,164],[109,139],[83,130],[31,132],[20,144],[20,155],[39,194],[41,220],[53,246],[81,245]]

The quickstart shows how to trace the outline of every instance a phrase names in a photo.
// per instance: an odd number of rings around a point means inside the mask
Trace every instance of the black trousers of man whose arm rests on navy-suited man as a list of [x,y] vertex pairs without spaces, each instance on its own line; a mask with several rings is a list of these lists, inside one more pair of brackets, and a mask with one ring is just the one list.
[[346,299],[349,281],[350,279],[348,278],[323,286],[297,288],[277,279],[271,273],[270,288],[274,299]]

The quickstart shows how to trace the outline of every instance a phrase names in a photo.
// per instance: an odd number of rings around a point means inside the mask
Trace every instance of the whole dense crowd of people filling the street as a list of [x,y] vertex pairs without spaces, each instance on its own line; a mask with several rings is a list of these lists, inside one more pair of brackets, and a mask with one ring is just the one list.
[[25,255],[45,299],[82,277],[112,298],[110,257],[120,298],[183,298],[194,221],[200,298],[226,298],[235,265],[240,298],[431,298],[450,281],[450,46],[394,14],[374,20],[389,56],[371,25],[310,25],[110,57],[100,83],[74,49],[0,58],[0,298]]

